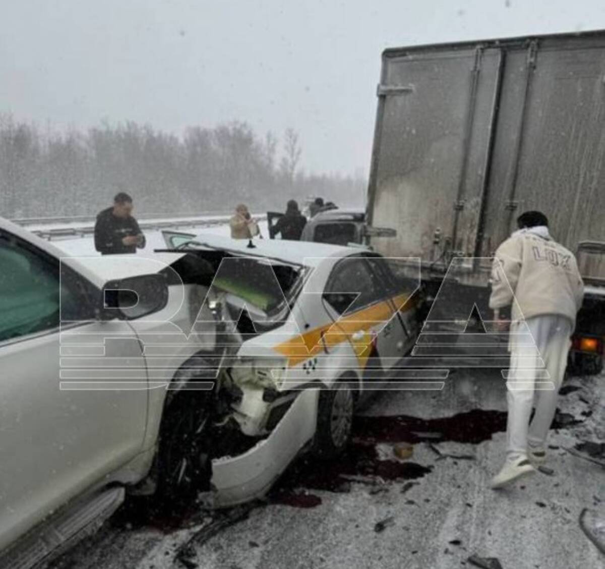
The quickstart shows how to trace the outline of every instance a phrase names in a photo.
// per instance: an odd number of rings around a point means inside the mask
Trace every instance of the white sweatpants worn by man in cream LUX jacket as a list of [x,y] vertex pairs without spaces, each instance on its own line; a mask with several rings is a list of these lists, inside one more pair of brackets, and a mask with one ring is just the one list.
[[[509,461],[526,455],[528,444],[546,445],[571,347],[571,326],[569,318],[557,314],[528,318],[525,324],[511,326],[511,368],[506,383]],[[534,396],[535,414],[529,425]]]

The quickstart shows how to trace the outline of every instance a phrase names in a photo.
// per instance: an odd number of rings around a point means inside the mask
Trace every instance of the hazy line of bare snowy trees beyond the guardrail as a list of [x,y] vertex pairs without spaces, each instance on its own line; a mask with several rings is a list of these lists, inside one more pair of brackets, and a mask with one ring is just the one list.
[[362,176],[308,174],[298,133],[258,136],[245,122],[189,127],[182,136],[150,125],[108,122],[88,130],[44,129],[0,115],[0,215],[95,215],[118,191],[139,217],[284,208],[307,196],[362,205]]

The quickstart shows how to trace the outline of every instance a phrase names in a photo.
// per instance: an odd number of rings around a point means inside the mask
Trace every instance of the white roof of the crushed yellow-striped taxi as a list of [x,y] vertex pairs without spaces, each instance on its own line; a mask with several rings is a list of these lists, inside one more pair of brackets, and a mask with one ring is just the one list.
[[231,251],[250,257],[273,258],[286,261],[286,263],[307,266],[317,266],[325,257],[347,257],[365,251],[365,248],[285,239],[254,239],[255,247],[249,248],[247,239],[232,239],[208,233],[198,235],[194,241],[212,249]]

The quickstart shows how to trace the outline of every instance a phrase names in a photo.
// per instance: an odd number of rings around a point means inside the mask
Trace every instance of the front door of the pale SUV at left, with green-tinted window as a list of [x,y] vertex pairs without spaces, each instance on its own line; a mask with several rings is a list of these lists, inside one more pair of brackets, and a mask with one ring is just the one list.
[[[2,230],[0,266],[2,549],[140,452],[147,392],[145,375],[138,390],[61,389],[65,377],[80,387],[115,380],[120,370],[99,367],[124,358],[137,367],[140,344],[113,321],[91,320],[90,292],[100,298],[98,289],[73,271],[60,274],[57,258]],[[61,317],[70,322],[61,327]],[[82,355],[99,357],[83,363]]]

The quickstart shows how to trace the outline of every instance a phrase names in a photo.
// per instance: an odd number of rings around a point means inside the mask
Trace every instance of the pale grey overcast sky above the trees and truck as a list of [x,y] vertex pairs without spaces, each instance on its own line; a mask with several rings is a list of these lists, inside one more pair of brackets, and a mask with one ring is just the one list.
[[367,173],[385,47],[596,28],[603,0],[4,0],[0,112],[291,126],[307,170]]

